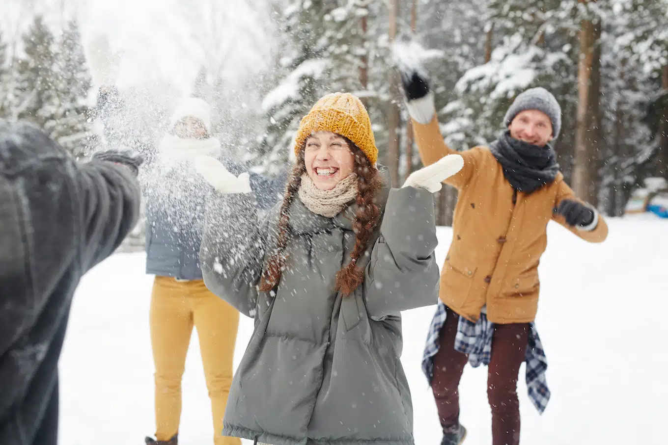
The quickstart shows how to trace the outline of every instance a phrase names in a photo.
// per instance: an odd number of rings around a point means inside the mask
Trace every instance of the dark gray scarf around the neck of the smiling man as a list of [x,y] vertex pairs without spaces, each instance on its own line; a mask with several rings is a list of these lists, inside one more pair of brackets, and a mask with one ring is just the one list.
[[510,137],[510,130],[492,142],[490,149],[503,167],[504,176],[517,191],[532,193],[554,181],[559,172],[552,145],[539,147],[514,139]]

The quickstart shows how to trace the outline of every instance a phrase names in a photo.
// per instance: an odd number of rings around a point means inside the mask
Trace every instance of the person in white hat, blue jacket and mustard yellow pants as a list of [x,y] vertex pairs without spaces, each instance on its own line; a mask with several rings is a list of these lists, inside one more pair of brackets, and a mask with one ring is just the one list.
[[[96,115],[108,123],[130,119],[118,89],[105,39],[94,41],[89,63],[100,86]],[[113,125],[108,125],[112,127]],[[211,156],[234,175],[246,177],[257,206],[266,210],[282,195],[287,168],[277,178],[246,173],[243,165],[222,156],[220,140],[212,132],[210,106],[196,97],[178,103],[170,127],[157,147],[144,146],[139,137],[120,125],[105,127],[108,145],[134,145],[145,152],[142,192],[146,203],[146,273],[155,276],[150,304],[150,331],[155,364],[154,438],[148,445],[176,445],[182,405],[181,380],[196,327],[211,399],[215,445],[239,445],[238,438],[222,436],[222,418],[232,382],[232,358],[239,313],[212,294],[202,280],[200,244],[206,200],[213,191],[194,171],[192,160]],[[112,131],[110,131],[112,130]],[[157,148],[157,149],[156,149]]]

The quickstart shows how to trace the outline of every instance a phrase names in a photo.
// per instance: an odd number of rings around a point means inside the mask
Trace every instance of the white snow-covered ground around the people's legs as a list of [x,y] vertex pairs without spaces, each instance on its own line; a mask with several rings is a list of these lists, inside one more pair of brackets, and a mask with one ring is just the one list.
[[[452,232],[440,229],[442,263]],[[552,400],[539,416],[520,370],[522,443],[668,444],[668,221],[613,219],[604,244],[556,224],[540,265],[536,325],[548,357]],[[152,277],[142,254],[116,254],[77,290],[60,361],[61,445],[143,444],[154,432],[148,307]],[[415,442],[436,445],[436,407],[420,360],[434,306],[405,312],[403,366],[415,409]],[[253,324],[242,320],[235,364]],[[491,443],[486,368],[460,386],[466,445]],[[212,444],[210,405],[193,333],[183,382],[181,445]],[[251,442],[246,442],[250,444]]]

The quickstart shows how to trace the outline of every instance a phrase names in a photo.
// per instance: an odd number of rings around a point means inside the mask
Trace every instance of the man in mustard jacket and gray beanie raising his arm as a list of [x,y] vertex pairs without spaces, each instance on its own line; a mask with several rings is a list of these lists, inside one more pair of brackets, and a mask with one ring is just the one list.
[[516,445],[522,362],[540,412],[549,398],[533,324],[547,224],[556,221],[588,242],[603,242],[607,224],[574,195],[559,171],[550,141],[559,135],[561,109],[546,89],[518,95],[504,117],[505,131],[489,147],[458,152],[444,143],[426,75],[406,69],[401,78],[423,163],[451,153],[464,158],[464,167],[445,181],[459,197],[423,362],[444,430],[442,445],[461,444],[466,436],[458,385],[467,361],[488,365],[493,445]]

